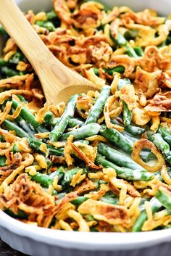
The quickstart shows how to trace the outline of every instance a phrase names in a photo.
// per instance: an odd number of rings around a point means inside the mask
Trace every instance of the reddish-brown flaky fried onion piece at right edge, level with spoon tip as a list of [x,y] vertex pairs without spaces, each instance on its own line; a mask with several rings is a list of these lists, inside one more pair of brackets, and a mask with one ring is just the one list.
[[149,104],[145,107],[146,111],[162,112],[171,110],[171,91],[156,94]]

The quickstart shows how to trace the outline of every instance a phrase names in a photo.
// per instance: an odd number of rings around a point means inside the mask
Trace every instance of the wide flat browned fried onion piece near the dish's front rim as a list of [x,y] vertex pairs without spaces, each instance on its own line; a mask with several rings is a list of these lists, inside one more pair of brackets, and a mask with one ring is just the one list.
[[78,207],[78,212],[93,215],[93,218],[96,220],[104,220],[112,225],[122,224],[125,226],[130,221],[128,210],[125,207],[111,205],[93,199],[88,199],[86,202],[83,202],[83,204]]

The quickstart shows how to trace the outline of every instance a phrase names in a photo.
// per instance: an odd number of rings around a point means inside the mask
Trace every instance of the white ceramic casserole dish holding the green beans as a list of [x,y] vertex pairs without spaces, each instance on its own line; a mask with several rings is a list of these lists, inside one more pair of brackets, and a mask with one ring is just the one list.
[[[49,10],[52,7],[52,0],[16,0],[23,11],[33,9],[38,12]],[[170,0],[104,0],[111,6],[128,5],[135,11],[151,8],[156,9],[160,14],[167,15],[171,12]],[[69,231],[54,231],[45,228],[29,226],[20,221],[14,220],[0,210],[0,236],[1,239],[12,248],[34,256],[54,255],[108,255],[107,251],[140,249],[150,247],[163,242],[171,241],[171,228],[161,231],[150,231],[141,233],[118,234],[118,233],[78,233]],[[158,249],[154,254],[149,249],[148,255],[159,255]],[[169,251],[162,256],[169,255]],[[73,250],[77,249],[77,251]],[[168,249],[168,247],[167,247]],[[80,253],[80,250],[85,250]],[[91,251],[91,252],[86,252]],[[93,252],[94,251],[94,252]],[[101,251],[101,252],[95,252]],[[104,252],[102,252],[104,251]],[[105,252],[106,251],[106,252]],[[141,255],[137,252],[125,252],[125,255]],[[111,253],[110,253],[111,255]],[[115,255],[115,254],[114,254]],[[120,252],[118,252],[120,255]],[[146,254],[142,254],[143,256]],[[160,254],[161,255],[161,254]],[[123,254],[122,254],[123,256]]]

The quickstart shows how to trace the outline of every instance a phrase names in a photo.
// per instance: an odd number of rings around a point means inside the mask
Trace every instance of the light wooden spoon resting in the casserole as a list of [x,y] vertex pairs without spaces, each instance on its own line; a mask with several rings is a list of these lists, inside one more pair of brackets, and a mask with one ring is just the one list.
[[0,22],[33,66],[49,104],[66,102],[73,94],[98,90],[49,51],[13,0],[0,0]]

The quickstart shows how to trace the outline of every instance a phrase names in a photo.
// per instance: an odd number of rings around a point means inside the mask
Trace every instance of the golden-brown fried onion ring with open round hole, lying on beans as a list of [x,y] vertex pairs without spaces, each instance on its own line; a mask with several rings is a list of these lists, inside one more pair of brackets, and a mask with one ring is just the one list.
[[[149,166],[145,162],[143,162],[143,160],[141,160],[140,152],[142,149],[150,149],[151,150],[151,152],[157,157],[156,165]],[[140,139],[140,140],[134,142],[132,158],[135,162],[138,162],[139,165],[141,165],[146,170],[149,170],[149,172],[151,172],[151,173],[157,172],[158,170],[160,170],[162,168],[162,165],[165,164],[164,157],[158,151],[157,147],[154,146],[154,144],[147,139]]]

